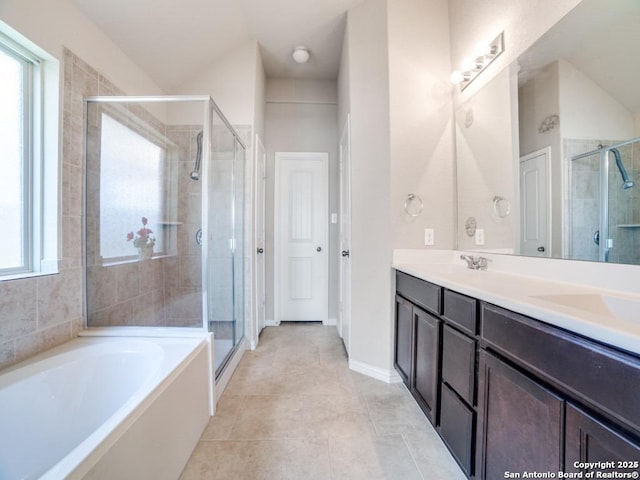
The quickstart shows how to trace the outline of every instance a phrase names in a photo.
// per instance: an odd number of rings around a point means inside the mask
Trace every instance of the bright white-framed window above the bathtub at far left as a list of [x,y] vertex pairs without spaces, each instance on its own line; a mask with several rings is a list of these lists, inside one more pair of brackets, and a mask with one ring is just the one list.
[[0,280],[53,273],[58,61],[2,22],[0,105]]

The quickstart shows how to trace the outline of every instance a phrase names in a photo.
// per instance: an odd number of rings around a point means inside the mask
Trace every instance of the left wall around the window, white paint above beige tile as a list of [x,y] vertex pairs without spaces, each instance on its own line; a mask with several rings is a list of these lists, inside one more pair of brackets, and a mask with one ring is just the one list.
[[[0,282],[2,368],[70,340],[83,328],[82,97],[121,93],[114,83],[130,93],[161,91],[70,1],[5,0],[0,3],[0,19],[61,61],[62,125],[60,273]],[[96,68],[65,53],[63,46]]]

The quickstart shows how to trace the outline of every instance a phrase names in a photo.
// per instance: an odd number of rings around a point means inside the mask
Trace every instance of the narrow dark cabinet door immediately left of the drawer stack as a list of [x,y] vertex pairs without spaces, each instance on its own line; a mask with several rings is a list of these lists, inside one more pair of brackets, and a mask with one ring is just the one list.
[[415,329],[413,385],[411,393],[431,423],[435,423],[438,398],[438,344],[440,320],[413,307]]

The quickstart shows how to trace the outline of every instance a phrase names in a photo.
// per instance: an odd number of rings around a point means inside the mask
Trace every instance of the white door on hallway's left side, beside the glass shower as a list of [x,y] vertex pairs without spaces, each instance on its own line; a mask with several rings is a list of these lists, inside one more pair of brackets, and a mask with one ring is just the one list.
[[266,318],[266,281],[265,281],[265,191],[267,181],[267,152],[260,140],[260,136],[256,134],[256,163],[255,163],[255,179],[256,179],[256,197],[255,197],[255,245],[256,245],[256,270],[255,270],[255,311],[256,311],[256,332],[255,343],[258,344],[258,336],[265,327]]

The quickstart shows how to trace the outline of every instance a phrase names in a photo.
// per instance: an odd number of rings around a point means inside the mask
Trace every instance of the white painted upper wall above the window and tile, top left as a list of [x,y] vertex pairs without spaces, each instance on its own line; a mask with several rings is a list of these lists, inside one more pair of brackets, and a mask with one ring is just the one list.
[[71,0],[2,0],[0,20],[60,61],[66,46],[129,95],[163,93]]

